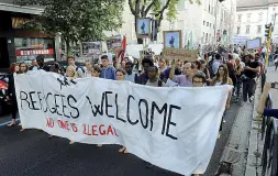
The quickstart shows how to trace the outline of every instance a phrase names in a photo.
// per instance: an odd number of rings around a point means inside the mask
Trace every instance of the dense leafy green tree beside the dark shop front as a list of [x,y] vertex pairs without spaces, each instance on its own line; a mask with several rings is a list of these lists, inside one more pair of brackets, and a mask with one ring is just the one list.
[[42,15],[25,26],[45,31],[51,35],[60,33],[70,52],[70,43],[99,41],[103,31],[121,28],[124,0],[21,0],[23,4],[44,7]]

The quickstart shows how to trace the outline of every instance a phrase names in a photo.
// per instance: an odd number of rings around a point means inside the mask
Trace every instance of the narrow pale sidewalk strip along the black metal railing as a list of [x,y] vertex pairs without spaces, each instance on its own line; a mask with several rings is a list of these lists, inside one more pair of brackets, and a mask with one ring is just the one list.
[[[267,69],[267,81],[278,81],[278,72],[274,70],[274,67]],[[262,175],[262,153],[264,147],[264,141],[260,140],[260,121],[257,119],[256,108],[260,98],[260,84],[257,85],[255,94],[255,102],[253,109],[252,130],[249,134],[248,155],[246,163],[245,176],[260,176]],[[278,108],[278,91],[271,89],[270,95],[273,98],[273,106]]]

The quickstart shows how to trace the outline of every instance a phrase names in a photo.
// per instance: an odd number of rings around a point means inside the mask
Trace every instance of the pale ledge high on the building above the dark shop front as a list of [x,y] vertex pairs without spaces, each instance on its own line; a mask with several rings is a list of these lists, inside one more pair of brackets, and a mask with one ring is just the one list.
[[10,4],[10,3],[1,3],[0,2],[0,11],[29,13],[29,14],[42,14],[44,9],[32,8],[32,7],[22,7],[22,6],[18,6],[18,4]]

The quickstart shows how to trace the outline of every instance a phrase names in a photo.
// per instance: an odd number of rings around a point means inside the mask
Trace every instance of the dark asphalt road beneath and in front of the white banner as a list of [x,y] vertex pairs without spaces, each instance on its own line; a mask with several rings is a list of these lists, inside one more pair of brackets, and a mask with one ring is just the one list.
[[[204,176],[213,176],[227,141],[238,106],[226,114],[221,139]],[[0,125],[9,121],[0,117]],[[0,176],[179,176],[165,169],[146,168],[145,162],[132,154],[120,154],[119,145],[98,147],[69,145],[67,139],[53,138],[38,130],[20,132],[20,127],[0,127]]]

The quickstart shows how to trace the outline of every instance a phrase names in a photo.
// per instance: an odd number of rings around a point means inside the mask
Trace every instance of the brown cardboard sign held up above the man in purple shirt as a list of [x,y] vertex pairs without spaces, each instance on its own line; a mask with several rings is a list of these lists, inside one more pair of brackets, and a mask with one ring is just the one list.
[[187,62],[197,61],[197,52],[187,48],[164,48],[163,57],[168,59],[180,59]]

